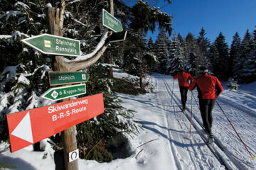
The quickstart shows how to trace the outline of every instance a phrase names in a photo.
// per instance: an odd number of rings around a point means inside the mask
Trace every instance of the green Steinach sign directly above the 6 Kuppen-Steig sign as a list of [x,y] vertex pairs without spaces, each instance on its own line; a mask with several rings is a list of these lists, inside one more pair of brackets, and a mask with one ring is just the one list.
[[50,86],[85,83],[89,79],[86,72],[48,72]]

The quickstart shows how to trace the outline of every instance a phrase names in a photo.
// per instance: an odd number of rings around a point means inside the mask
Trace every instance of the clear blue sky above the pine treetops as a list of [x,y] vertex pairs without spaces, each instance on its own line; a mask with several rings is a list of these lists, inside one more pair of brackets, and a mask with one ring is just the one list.
[[[150,4],[152,0],[149,0]],[[159,0],[155,6],[164,6],[166,2]],[[242,39],[247,29],[256,30],[256,0],[172,0],[172,4],[164,6],[161,11],[174,16],[172,26],[175,33],[183,37],[188,32],[197,38],[201,28],[206,30],[206,38],[213,42],[220,31],[228,45],[233,35],[238,32]],[[156,40],[158,31],[148,32],[147,37]]]

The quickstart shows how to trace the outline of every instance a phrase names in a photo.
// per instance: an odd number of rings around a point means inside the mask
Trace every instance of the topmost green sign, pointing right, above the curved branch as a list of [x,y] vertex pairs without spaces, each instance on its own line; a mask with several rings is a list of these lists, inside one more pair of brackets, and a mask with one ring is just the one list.
[[121,32],[123,30],[122,23],[105,9],[102,9],[102,24],[110,30],[113,30],[114,33]]

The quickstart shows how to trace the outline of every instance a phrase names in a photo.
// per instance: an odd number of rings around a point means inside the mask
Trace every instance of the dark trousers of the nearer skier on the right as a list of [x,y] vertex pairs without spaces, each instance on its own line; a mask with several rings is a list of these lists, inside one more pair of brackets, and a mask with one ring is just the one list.
[[203,120],[203,127],[206,129],[208,134],[211,134],[211,127],[213,125],[213,116],[212,111],[215,105],[216,98],[214,99],[200,99],[199,98],[199,107]]

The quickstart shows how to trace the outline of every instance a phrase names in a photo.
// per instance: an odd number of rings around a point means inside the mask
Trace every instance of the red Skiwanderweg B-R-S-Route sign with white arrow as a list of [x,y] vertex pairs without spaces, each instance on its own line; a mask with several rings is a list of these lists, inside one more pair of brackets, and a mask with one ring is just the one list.
[[103,94],[7,115],[11,152],[104,113]]

